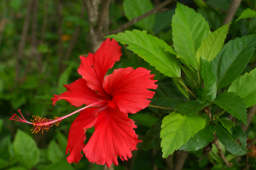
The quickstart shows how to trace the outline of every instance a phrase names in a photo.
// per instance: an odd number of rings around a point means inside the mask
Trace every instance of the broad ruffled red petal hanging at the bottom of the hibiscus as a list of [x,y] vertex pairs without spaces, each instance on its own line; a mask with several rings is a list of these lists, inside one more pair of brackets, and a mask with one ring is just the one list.
[[95,132],[84,147],[84,155],[90,162],[111,166],[118,165],[117,156],[122,161],[131,157],[131,150],[137,150],[137,126],[126,113],[111,108],[97,117]]

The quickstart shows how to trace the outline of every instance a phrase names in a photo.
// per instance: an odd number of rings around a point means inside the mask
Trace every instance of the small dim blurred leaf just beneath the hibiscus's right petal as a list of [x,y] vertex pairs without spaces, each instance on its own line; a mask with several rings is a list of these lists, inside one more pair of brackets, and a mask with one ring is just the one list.
[[148,113],[137,113],[129,116],[133,121],[139,122],[145,127],[152,127],[155,122],[158,121],[158,118],[151,116]]

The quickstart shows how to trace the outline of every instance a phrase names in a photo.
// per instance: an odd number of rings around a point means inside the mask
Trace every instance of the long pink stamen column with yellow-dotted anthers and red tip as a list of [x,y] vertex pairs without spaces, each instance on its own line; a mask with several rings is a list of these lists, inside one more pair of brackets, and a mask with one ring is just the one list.
[[100,101],[91,105],[87,105],[81,109],[79,109],[78,111],[73,111],[72,113],[66,115],[66,116],[61,116],[61,117],[54,117],[53,119],[46,119],[43,118],[42,116],[32,116],[33,119],[31,120],[32,122],[28,122],[26,121],[26,119],[24,118],[24,116],[21,114],[20,109],[18,110],[20,112],[20,116],[17,116],[16,113],[14,114],[14,116],[11,116],[9,118],[9,120],[11,121],[16,121],[16,122],[26,122],[28,124],[32,124],[32,133],[39,133],[40,131],[42,131],[42,133],[44,133],[44,130],[48,131],[49,127],[53,127],[54,125],[58,126],[60,124],[60,122],[67,118],[68,116],[72,116],[75,113],[78,113],[79,111],[83,111],[84,109],[87,109],[93,105],[98,105],[98,104],[103,104],[103,103],[107,103],[108,101]]

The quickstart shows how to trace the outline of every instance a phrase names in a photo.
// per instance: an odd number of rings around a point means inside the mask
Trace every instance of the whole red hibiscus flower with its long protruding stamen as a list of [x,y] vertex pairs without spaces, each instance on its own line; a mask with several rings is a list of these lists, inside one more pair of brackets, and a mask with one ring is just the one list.
[[[118,165],[117,156],[122,161],[131,157],[131,150],[137,150],[137,134],[133,130],[137,126],[128,118],[128,113],[137,113],[146,108],[154,96],[154,75],[144,68],[131,67],[114,70],[105,77],[108,69],[115,61],[119,61],[121,50],[118,42],[108,38],[102,42],[96,54],[88,57],[80,56],[81,65],[79,80],[65,85],[67,92],[54,95],[53,105],[60,99],[67,100],[71,105],[86,107],[67,115],[71,116],[80,111],[72,123],[67,140],[69,163],[79,162],[81,150],[90,162]],[[94,107],[91,107],[94,106]],[[89,108],[90,107],[90,108]],[[86,109],[88,108],[88,109]],[[86,110],[85,110],[86,109]],[[20,113],[21,114],[21,113]],[[55,123],[61,122],[67,116],[55,117],[48,120],[36,116],[33,122],[27,122],[24,117],[12,116],[11,120],[33,124],[33,132],[49,129]],[[84,144],[86,130],[95,127],[87,144]]]

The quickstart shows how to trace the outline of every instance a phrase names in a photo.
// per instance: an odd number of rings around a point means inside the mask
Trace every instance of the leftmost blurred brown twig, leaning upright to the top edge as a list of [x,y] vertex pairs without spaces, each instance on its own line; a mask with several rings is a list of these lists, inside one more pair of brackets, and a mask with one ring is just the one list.
[[29,0],[27,3],[27,7],[26,7],[26,18],[24,20],[24,24],[23,24],[23,28],[22,28],[22,33],[21,33],[21,37],[20,37],[20,42],[19,42],[19,48],[18,48],[18,54],[17,54],[17,59],[16,59],[16,67],[15,67],[15,81],[17,82],[19,80],[20,77],[20,60],[23,57],[23,52],[24,52],[24,47],[25,47],[25,43],[26,43],[26,34],[27,34],[27,30],[28,30],[28,24],[29,24],[29,17],[30,17],[30,13],[32,10],[32,0]]

